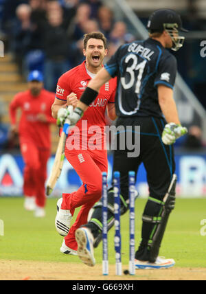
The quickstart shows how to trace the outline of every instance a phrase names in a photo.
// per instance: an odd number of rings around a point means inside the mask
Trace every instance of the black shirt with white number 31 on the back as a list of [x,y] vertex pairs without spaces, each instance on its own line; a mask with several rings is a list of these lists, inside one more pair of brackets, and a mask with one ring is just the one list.
[[177,65],[161,43],[148,38],[122,45],[105,69],[113,78],[117,76],[117,116],[163,117],[157,85],[173,89]]

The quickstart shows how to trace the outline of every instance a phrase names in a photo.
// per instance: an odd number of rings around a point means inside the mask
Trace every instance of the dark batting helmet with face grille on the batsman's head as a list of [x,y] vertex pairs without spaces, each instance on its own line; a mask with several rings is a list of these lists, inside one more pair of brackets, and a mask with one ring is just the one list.
[[181,16],[174,10],[156,10],[150,15],[147,28],[150,33],[164,30],[168,32],[172,38],[172,50],[177,51],[183,46],[185,37],[179,36],[179,31],[187,32],[187,30],[182,27]]

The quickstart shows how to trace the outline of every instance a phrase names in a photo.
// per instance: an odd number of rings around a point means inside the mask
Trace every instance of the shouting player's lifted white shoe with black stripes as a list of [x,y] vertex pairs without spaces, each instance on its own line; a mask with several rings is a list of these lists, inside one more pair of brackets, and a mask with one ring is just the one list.
[[69,233],[72,215],[70,213],[70,210],[61,209],[62,201],[63,199],[60,198],[58,199],[56,204],[57,214],[55,218],[55,227],[56,231],[58,231],[58,234],[65,237]]

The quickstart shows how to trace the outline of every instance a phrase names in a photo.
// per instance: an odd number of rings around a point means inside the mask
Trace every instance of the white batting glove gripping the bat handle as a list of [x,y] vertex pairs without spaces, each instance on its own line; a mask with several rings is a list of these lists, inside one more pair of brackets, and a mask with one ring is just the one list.
[[71,126],[75,126],[83,115],[83,111],[80,108],[76,108],[73,111],[73,106],[69,106],[67,109],[61,108],[57,114],[57,125],[64,126],[65,121],[68,119]]

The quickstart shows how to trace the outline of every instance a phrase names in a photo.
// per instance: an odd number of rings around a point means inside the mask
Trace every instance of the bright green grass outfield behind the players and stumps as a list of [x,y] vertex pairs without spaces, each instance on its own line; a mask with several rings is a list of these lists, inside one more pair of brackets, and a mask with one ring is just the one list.
[[[145,199],[136,201],[136,241],[141,236],[141,214]],[[206,236],[201,236],[201,220],[206,219],[206,199],[178,199],[170,216],[161,247],[161,256],[174,258],[177,267],[206,267]],[[54,227],[56,199],[47,200],[47,216],[34,218],[23,209],[23,198],[0,198],[0,219],[5,234],[0,236],[0,259],[80,262],[76,256],[64,256],[59,249],[62,237]],[[122,261],[128,263],[128,214],[122,217]],[[115,264],[113,229],[109,231],[109,262]],[[102,262],[102,246],[95,249],[95,258]]]

